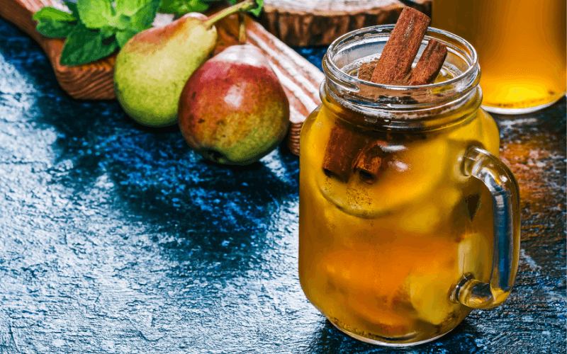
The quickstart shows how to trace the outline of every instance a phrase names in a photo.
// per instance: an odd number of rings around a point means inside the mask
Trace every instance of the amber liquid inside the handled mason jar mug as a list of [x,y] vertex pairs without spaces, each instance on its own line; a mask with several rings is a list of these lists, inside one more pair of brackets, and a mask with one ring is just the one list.
[[325,98],[301,132],[303,291],[332,324],[364,341],[441,336],[471,311],[449,300],[461,276],[490,279],[492,199],[462,174],[461,158],[472,144],[498,154],[498,128],[479,109],[434,132],[369,130],[388,142],[388,166],[375,183],[356,173],[343,183],[322,169],[336,112],[352,114]]

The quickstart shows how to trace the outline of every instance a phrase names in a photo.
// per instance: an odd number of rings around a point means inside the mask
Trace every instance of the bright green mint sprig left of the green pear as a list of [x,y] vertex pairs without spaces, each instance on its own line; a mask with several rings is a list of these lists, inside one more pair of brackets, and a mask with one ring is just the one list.
[[71,13],[45,7],[33,15],[39,33],[67,38],[60,63],[80,65],[111,55],[152,26],[162,0],[65,1]]

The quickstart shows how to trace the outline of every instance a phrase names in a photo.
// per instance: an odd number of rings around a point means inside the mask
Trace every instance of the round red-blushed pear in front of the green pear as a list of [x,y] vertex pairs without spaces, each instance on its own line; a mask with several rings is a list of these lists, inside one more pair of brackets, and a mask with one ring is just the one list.
[[262,159],[289,125],[286,93],[253,45],[228,47],[196,69],[181,91],[177,113],[189,146],[220,164]]

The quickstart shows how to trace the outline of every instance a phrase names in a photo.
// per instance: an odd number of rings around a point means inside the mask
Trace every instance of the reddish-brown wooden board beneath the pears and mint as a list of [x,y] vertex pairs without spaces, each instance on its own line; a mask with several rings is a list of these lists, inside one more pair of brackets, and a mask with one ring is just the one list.
[[[116,98],[113,70],[116,53],[97,62],[67,67],[59,64],[63,39],[47,38],[35,30],[33,13],[44,6],[58,8],[58,0],[0,0],[0,16],[26,32],[43,48],[49,58],[57,81],[70,96],[84,100],[106,100]],[[160,18],[163,20],[162,18]],[[169,20],[171,21],[171,19]],[[162,24],[167,23],[162,21]],[[157,25],[157,22],[154,23]],[[271,35],[262,25],[251,18],[246,19],[247,42],[264,52],[271,68],[281,81],[290,103],[291,129],[288,146],[293,154],[299,154],[299,131],[307,115],[320,104],[319,85],[325,76],[307,59]],[[218,43],[215,54],[229,45],[238,43],[237,16],[225,18],[217,23]]]

